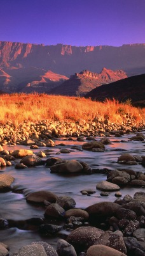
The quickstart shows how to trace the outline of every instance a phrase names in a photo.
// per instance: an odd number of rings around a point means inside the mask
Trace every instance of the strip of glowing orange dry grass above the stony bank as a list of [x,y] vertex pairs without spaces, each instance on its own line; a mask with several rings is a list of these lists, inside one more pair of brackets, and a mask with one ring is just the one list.
[[132,115],[139,124],[145,120],[145,109],[134,108],[128,101],[119,104],[116,100],[95,102],[79,97],[65,97],[55,95],[13,94],[0,97],[0,122],[11,121],[15,124],[24,120],[93,120],[100,116],[102,120],[109,118],[111,122],[121,124],[125,115]]

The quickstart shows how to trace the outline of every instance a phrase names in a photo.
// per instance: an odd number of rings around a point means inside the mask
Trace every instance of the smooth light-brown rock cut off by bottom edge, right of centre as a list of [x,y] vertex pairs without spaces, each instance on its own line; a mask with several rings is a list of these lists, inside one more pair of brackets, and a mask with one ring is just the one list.
[[[87,256],[125,256],[126,254],[119,252],[113,248],[110,248],[106,245],[93,245],[88,248]],[[126,255],[127,256],[127,255]]]

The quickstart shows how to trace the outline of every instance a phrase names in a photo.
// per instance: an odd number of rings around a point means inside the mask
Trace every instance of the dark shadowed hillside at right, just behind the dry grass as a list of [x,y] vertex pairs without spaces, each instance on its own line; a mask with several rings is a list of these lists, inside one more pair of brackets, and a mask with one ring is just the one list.
[[133,103],[142,104],[145,102],[145,74],[104,84],[87,93],[85,97],[98,101],[114,98],[124,102],[127,99],[131,99]]

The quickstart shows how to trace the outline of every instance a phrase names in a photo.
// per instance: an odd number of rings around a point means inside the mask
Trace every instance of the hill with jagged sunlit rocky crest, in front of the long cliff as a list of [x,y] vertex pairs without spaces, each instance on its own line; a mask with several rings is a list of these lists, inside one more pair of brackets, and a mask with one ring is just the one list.
[[57,88],[53,88],[50,93],[55,95],[83,96],[97,86],[111,83],[125,77],[127,77],[127,75],[123,70],[113,71],[103,68],[99,74],[83,70],[80,73],[75,73],[74,76],[71,76],[69,80],[65,81]]

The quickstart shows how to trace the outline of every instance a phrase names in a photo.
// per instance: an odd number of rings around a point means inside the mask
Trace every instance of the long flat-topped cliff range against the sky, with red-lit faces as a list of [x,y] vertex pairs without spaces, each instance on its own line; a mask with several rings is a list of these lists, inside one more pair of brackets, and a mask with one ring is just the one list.
[[0,67],[44,68],[67,77],[80,70],[98,73],[107,67],[125,70],[130,76],[144,70],[145,44],[76,47],[0,42]]

